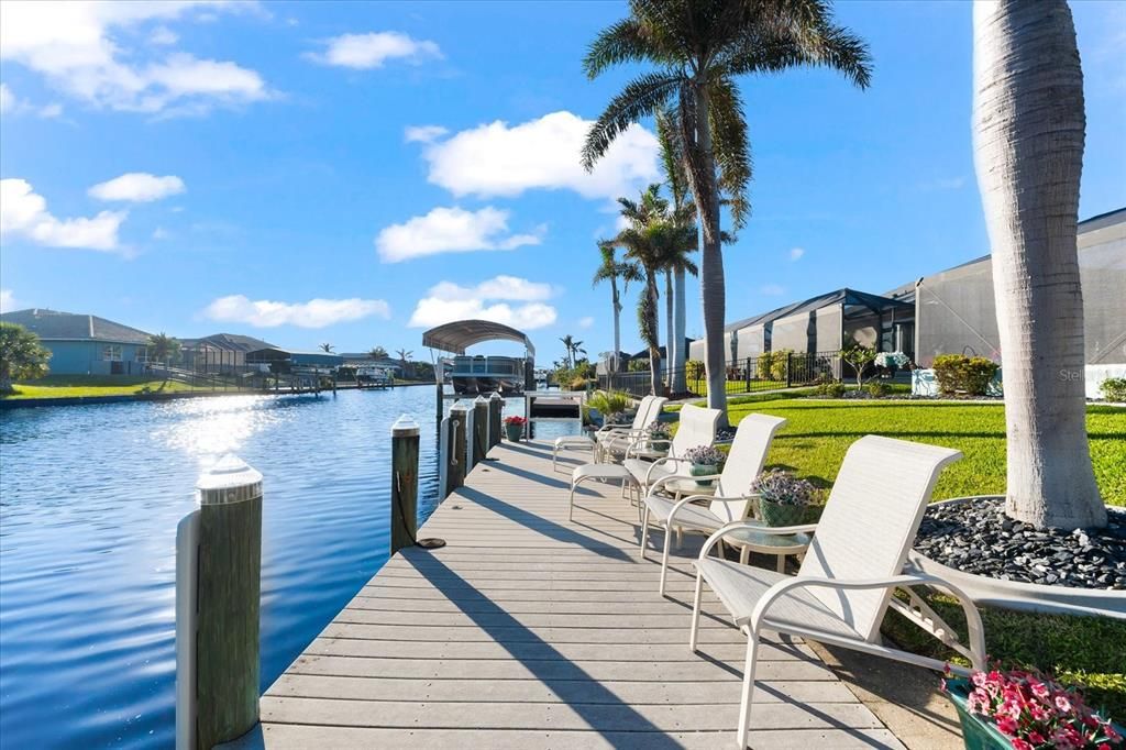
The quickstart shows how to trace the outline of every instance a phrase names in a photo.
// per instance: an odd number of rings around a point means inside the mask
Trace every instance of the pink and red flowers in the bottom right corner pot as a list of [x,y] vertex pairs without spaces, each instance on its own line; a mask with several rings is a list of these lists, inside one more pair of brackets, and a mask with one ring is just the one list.
[[951,679],[949,668],[946,673],[942,689],[964,686],[966,709],[992,722],[1016,750],[1123,747],[1110,721],[1089,708],[1078,691],[1037,672],[1006,671],[994,664],[989,671],[974,671],[969,684]]

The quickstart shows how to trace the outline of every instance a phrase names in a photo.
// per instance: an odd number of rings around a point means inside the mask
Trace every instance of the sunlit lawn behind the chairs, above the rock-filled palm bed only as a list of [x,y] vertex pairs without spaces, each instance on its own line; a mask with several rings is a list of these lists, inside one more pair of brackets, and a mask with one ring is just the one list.
[[[785,417],[769,466],[787,467],[830,486],[844,452],[865,435],[885,435],[962,450],[939,477],[933,498],[1004,493],[1004,407],[999,403],[835,401],[759,394],[732,400],[734,425],[752,411]],[[1094,475],[1108,505],[1126,506],[1126,410],[1089,405],[1087,425]]]

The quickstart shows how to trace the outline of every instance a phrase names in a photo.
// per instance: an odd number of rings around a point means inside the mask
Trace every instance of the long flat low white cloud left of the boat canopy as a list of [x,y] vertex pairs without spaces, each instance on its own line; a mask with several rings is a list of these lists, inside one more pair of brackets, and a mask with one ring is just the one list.
[[274,302],[250,300],[232,294],[212,302],[203,312],[205,318],[224,323],[245,323],[254,328],[297,325],[325,328],[375,315],[387,320],[391,307],[383,300],[310,300],[309,302]]

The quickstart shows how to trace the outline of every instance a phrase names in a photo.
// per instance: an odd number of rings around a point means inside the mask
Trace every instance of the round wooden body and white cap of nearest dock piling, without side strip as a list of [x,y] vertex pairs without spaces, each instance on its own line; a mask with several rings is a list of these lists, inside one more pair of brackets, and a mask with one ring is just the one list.
[[258,723],[262,475],[236,456],[199,477],[196,747]]

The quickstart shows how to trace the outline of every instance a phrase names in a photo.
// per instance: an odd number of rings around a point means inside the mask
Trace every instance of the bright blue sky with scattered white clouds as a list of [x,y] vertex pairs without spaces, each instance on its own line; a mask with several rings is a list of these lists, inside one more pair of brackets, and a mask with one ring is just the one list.
[[[1072,7],[1085,217],[1126,205],[1126,5]],[[729,320],[841,286],[882,293],[988,251],[971,10],[842,2],[838,19],[872,47],[868,91],[825,71],[744,82],[753,216],[725,251]],[[580,60],[624,14],[5,2],[0,302],[418,355],[425,328],[480,315],[526,328],[542,361],[565,333],[605,351],[595,240],[614,231],[613,198],[656,175],[641,128],[595,175],[578,168],[583,120],[631,73],[591,82]],[[689,297],[699,334],[692,284]]]

